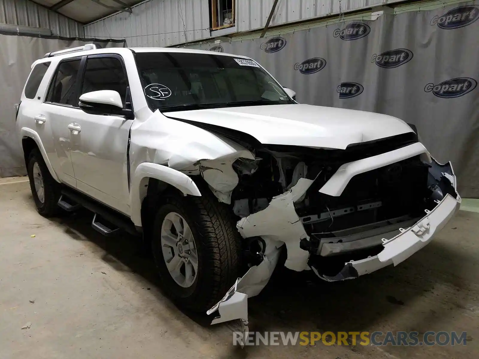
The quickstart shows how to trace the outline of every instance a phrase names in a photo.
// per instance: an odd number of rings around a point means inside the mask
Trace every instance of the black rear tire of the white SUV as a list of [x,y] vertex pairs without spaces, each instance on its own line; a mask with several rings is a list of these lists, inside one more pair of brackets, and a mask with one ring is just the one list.
[[[44,201],[40,201],[35,190],[34,183],[34,165],[38,163],[40,173],[44,184]],[[50,171],[46,167],[45,160],[37,148],[34,148],[28,155],[27,162],[28,179],[30,180],[30,189],[32,190],[33,199],[36,209],[44,217],[52,217],[58,214],[60,207],[58,207],[58,199],[60,198],[60,185],[53,179]]]

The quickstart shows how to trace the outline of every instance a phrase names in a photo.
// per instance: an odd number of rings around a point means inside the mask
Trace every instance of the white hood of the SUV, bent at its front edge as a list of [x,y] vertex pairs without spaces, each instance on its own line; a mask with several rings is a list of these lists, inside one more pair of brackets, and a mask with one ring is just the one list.
[[241,131],[262,144],[345,149],[412,132],[399,118],[304,104],[163,112],[165,116]]

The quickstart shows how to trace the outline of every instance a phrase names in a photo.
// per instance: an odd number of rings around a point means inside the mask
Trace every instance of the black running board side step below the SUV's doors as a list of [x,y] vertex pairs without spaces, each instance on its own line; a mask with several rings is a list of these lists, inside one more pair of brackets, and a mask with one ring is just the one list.
[[[71,190],[68,187],[62,188],[61,193],[62,197],[65,196],[74,203],[78,203],[78,205],[83,206],[94,213],[91,226],[102,235],[111,236],[114,233],[117,233],[117,230],[121,228],[133,236],[141,236],[141,233],[137,231],[135,224],[133,224],[131,219],[124,214],[116,212],[102,203],[96,202],[90,197]],[[111,228],[111,226],[114,228]]]

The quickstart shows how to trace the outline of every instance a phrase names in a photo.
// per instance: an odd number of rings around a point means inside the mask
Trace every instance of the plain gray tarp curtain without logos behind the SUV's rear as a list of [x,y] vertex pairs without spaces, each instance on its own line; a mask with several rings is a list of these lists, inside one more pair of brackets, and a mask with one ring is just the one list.
[[26,174],[23,151],[15,133],[15,103],[32,63],[47,52],[91,44],[123,47],[124,42],[62,40],[0,34],[0,177]]

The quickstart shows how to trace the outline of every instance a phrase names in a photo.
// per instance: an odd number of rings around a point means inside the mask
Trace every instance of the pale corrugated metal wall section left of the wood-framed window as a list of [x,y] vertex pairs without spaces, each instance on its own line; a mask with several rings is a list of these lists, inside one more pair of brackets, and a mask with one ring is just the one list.
[[[86,25],[85,36],[126,38],[130,47],[181,44],[185,34],[186,41],[210,36],[208,0],[150,0],[134,6],[132,11]],[[146,34],[155,35],[142,36]]]

